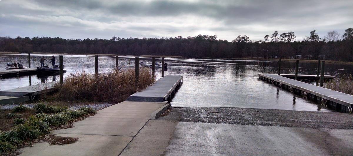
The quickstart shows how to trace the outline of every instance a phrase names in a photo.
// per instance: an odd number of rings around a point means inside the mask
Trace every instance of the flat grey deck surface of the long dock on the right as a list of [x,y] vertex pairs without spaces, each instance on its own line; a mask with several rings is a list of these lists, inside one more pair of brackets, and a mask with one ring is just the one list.
[[260,77],[264,77],[270,80],[273,80],[278,83],[285,84],[287,86],[293,87],[295,89],[305,91],[309,94],[316,95],[325,100],[329,100],[338,104],[342,104],[343,106],[347,106],[352,108],[353,104],[353,96],[349,94],[345,94],[339,91],[334,91],[331,89],[323,88],[320,86],[312,85],[305,82],[300,82],[298,80],[293,80],[290,78],[286,78],[283,76],[278,76],[276,74],[258,74]]

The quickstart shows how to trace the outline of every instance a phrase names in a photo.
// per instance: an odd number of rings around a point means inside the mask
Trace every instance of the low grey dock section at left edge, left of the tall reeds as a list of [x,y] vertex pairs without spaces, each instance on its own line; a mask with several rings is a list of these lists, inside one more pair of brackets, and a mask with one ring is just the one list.
[[58,82],[54,81],[0,91],[0,104],[12,104],[34,100],[37,95],[53,91],[56,83]]

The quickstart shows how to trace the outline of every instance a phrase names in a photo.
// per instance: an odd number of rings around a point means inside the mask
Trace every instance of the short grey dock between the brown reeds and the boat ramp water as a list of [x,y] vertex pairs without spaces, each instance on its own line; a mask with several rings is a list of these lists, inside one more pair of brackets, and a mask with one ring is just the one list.
[[183,76],[164,76],[155,83],[152,83],[146,89],[132,94],[126,101],[170,102],[182,83]]

